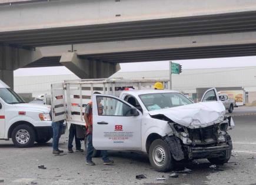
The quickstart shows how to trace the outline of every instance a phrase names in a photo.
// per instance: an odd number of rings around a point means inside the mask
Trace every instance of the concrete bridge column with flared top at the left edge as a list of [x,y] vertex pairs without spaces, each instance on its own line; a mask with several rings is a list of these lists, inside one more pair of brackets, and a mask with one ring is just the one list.
[[0,79],[14,88],[14,70],[42,58],[40,51],[0,46]]

